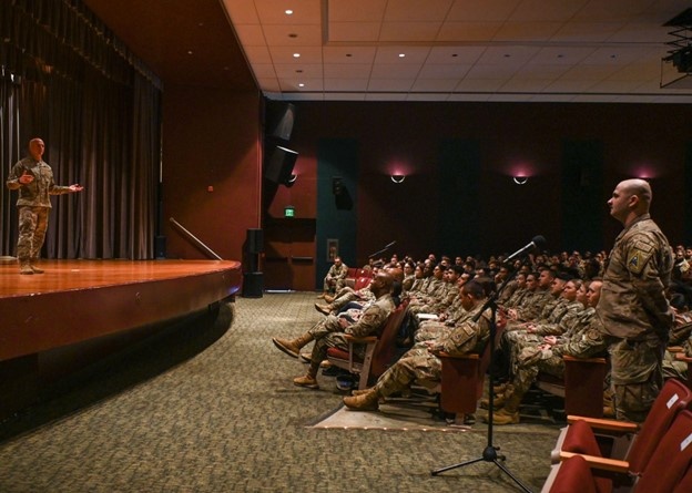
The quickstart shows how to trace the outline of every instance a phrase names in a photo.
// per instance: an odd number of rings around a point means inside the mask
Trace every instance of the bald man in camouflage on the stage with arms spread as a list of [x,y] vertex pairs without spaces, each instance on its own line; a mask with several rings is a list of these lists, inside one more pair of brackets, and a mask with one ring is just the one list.
[[19,240],[17,257],[20,274],[43,274],[35,266],[41,255],[41,247],[48,228],[48,216],[52,208],[50,195],[81,192],[82,186],[74,184],[59,186],[53,182],[53,171],[42,160],[45,144],[41,138],[29,142],[29,155],[20,160],[10,172],[7,181],[9,189],[19,189]]

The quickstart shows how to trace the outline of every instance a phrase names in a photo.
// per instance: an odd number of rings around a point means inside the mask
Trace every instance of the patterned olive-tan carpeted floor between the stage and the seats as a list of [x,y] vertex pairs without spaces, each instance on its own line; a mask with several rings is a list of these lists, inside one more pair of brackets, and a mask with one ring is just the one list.
[[[2,423],[0,491],[520,491],[488,462],[430,475],[482,453],[480,423],[450,432],[431,419],[426,427],[425,417],[418,428],[316,425],[343,394],[322,376],[322,390],[294,387],[305,366],[271,341],[319,320],[314,301],[313,292],[240,298],[230,330],[189,321]],[[506,466],[535,491],[558,428],[495,428]]]

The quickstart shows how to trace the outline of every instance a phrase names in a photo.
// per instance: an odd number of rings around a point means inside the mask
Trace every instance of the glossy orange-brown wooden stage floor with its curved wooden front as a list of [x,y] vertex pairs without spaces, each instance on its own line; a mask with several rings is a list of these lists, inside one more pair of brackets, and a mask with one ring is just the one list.
[[0,264],[0,361],[174,319],[233,297],[234,260],[43,260]]

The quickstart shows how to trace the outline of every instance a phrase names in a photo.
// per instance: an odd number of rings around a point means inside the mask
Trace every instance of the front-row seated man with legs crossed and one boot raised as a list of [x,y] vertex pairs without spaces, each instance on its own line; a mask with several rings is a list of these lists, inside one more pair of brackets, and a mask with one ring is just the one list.
[[[293,383],[308,389],[318,389],[317,371],[319,370],[319,363],[327,357],[327,349],[336,347],[348,350],[348,342],[344,335],[349,333],[357,337],[378,336],[385,327],[389,314],[395,308],[391,299],[391,275],[380,270],[370,283],[370,290],[376,299],[363,307],[357,320],[350,318],[348,314],[340,314],[339,316],[329,315],[296,339],[273,338],[274,346],[294,358],[298,358],[301,348],[313,340],[315,341],[307,374],[296,377]],[[363,346],[356,347],[355,350],[360,357],[365,355],[365,347]]]

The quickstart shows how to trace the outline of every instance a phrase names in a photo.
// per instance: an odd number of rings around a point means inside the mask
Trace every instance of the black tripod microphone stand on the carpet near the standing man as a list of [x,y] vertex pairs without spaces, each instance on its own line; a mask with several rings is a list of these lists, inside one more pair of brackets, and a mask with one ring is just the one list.
[[[526,258],[525,260],[521,263],[521,265],[526,264]],[[497,465],[498,468],[500,468],[500,470],[507,474],[509,477],[512,479],[512,481],[515,483],[517,483],[519,485],[519,487],[521,487],[521,490],[523,490],[526,493],[531,493],[531,490],[525,485],[517,476],[515,476],[506,466],[505,464],[502,464],[500,461],[505,461],[507,459],[506,455],[503,454],[499,454],[498,450],[500,450],[499,446],[493,445],[493,440],[492,440],[492,414],[493,414],[493,409],[492,409],[492,404],[493,404],[493,396],[492,396],[492,387],[495,386],[495,369],[493,369],[493,362],[495,362],[495,338],[496,338],[496,333],[497,333],[497,299],[500,296],[500,294],[505,290],[505,287],[507,286],[507,284],[515,278],[515,276],[517,275],[518,269],[512,270],[507,278],[505,279],[505,283],[502,283],[502,286],[500,286],[499,289],[497,289],[496,291],[491,292],[490,296],[488,296],[488,299],[486,300],[485,305],[482,306],[482,308],[480,309],[480,311],[478,312],[478,315],[474,318],[474,321],[478,321],[478,319],[482,316],[482,314],[487,310],[490,309],[490,338],[488,339],[489,345],[492,345],[492,347],[490,348],[490,363],[488,364],[488,374],[489,374],[489,392],[488,392],[488,441],[486,444],[486,448],[484,449],[481,455],[479,458],[476,459],[471,459],[465,462],[460,462],[458,464],[451,464],[451,465],[447,465],[440,469],[436,469],[434,471],[430,471],[430,474],[436,476],[445,471],[449,471],[452,469],[457,469],[457,468],[465,468],[467,465],[470,464],[475,464],[476,462],[493,462],[495,465]]]

